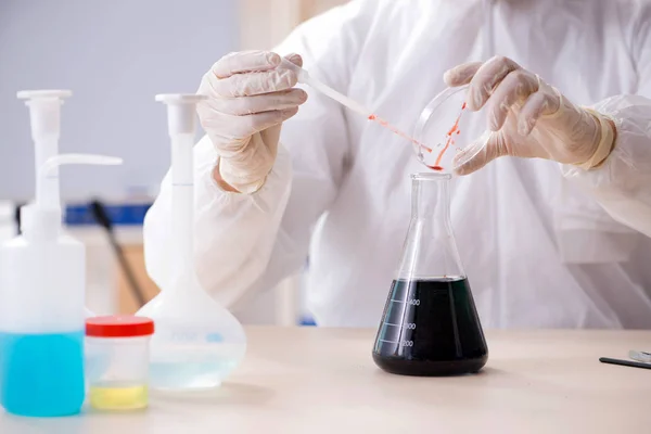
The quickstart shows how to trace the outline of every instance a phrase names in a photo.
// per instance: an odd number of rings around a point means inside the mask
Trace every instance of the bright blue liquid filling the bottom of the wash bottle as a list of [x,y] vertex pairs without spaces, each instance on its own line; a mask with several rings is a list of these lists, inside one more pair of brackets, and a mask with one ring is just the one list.
[[0,404],[18,416],[76,414],[84,404],[84,332],[0,333]]

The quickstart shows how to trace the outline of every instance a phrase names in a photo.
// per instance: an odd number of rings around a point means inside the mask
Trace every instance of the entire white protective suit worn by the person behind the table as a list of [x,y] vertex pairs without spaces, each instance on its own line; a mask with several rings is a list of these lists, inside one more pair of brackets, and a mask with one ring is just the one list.
[[[408,131],[446,69],[495,54],[611,116],[616,148],[601,167],[498,158],[452,181],[451,218],[484,327],[651,328],[648,1],[359,0],[276,51],[302,54],[314,76]],[[400,138],[306,90],[258,192],[221,191],[212,143],[196,145],[199,277],[237,308],[299,272],[309,251],[317,323],[376,327],[409,222],[409,174],[423,167]],[[159,285],[169,206],[167,177],[144,229]]]

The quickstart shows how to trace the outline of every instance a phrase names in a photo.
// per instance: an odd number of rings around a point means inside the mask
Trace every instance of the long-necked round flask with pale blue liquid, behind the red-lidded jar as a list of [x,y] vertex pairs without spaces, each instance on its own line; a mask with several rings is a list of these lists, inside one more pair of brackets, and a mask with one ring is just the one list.
[[137,315],[154,320],[150,384],[162,390],[218,386],[240,365],[246,336],[240,322],[202,288],[194,271],[195,104],[205,97],[167,94],[171,138],[173,279]]

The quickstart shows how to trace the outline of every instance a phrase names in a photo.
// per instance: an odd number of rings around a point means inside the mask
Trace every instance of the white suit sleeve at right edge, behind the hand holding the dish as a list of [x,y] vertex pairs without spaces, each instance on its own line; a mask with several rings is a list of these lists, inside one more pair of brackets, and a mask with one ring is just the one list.
[[643,8],[630,26],[637,94],[612,97],[593,106],[615,122],[615,148],[599,168],[586,171],[564,165],[562,170],[615,220],[651,237],[651,8]]

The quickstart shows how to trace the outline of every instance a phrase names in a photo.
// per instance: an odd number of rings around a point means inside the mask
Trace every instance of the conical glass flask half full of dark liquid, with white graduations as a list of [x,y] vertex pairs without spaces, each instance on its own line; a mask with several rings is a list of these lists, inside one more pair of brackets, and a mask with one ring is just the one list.
[[411,176],[411,220],[373,360],[405,375],[477,372],[488,348],[457,252],[449,174]]

